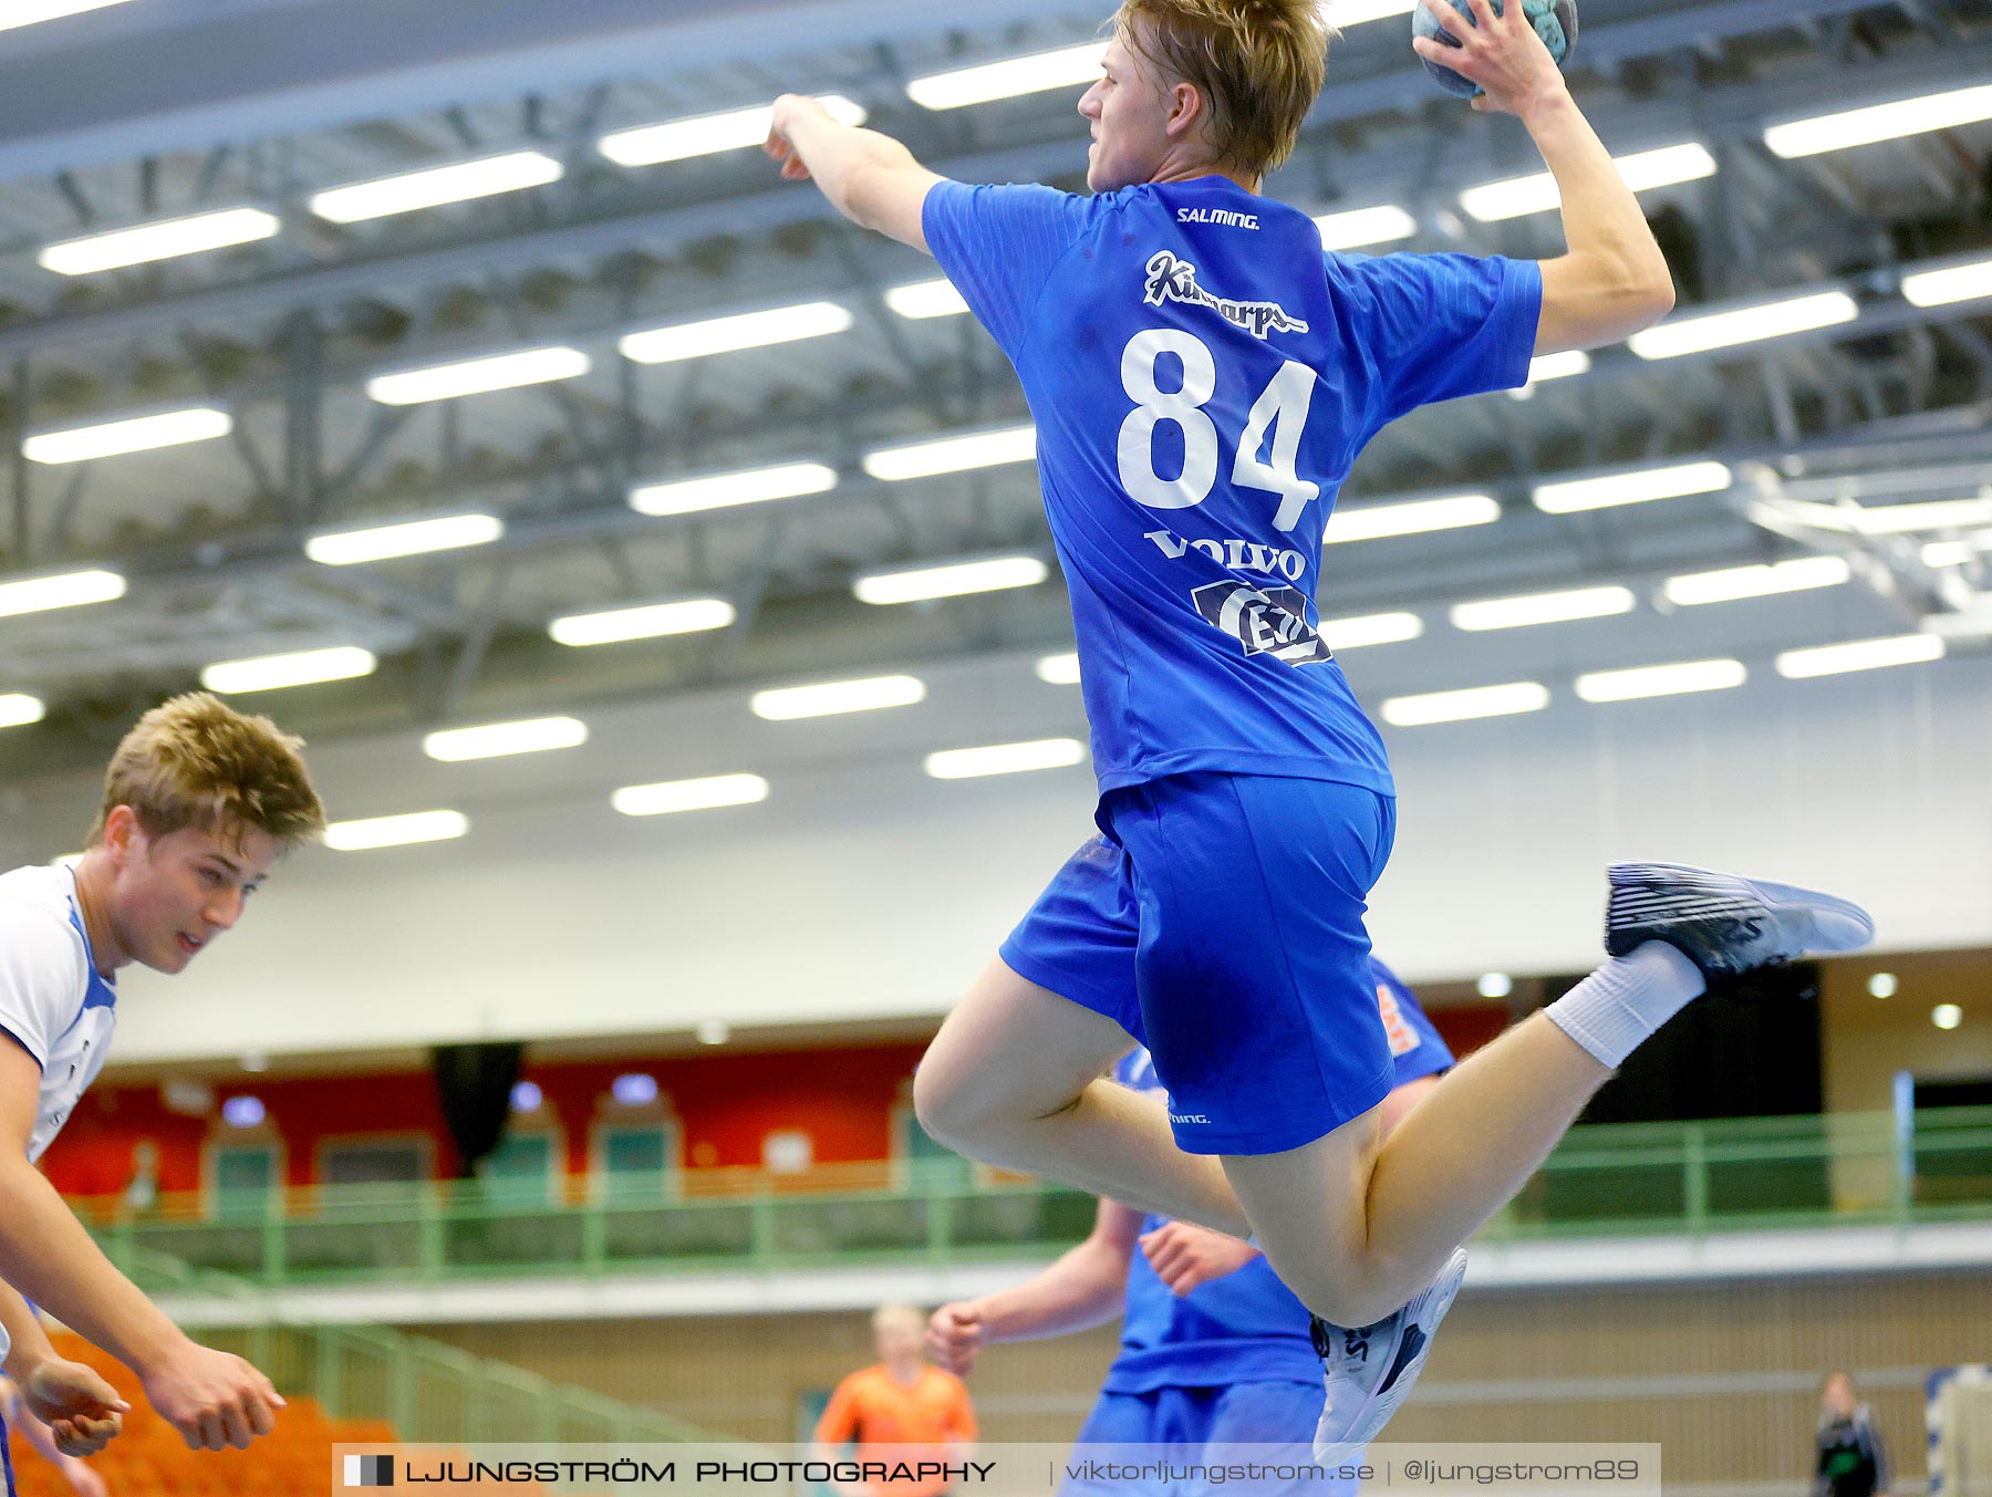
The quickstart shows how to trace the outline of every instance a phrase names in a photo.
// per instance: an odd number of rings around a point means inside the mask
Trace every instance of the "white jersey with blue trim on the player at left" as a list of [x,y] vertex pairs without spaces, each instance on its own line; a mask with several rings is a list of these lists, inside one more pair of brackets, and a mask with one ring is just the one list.
[[76,874],[0,874],[0,1029],[42,1067],[28,1159],[42,1157],[104,1069],[116,1023],[118,989],[92,960]]

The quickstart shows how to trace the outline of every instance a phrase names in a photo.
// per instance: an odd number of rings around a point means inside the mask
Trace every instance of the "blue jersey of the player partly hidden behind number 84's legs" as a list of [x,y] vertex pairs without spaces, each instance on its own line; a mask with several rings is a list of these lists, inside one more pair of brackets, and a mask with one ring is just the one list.
[[[1376,1003],[1390,1033],[1396,1061],[1394,1085],[1434,1075],[1452,1065],[1452,1051],[1424,1017],[1418,999],[1382,962],[1370,958]],[[1137,1091],[1159,1091],[1161,1081],[1145,1049],[1120,1063],[1114,1079]],[[1143,1232],[1167,1218],[1149,1216]],[[1147,1393],[1157,1388],[1221,1388],[1251,1382],[1319,1382],[1321,1360],[1307,1336],[1307,1306],[1279,1282],[1265,1258],[1235,1274],[1199,1284],[1177,1298],[1135,1248],[1127,1264],[1127,1314],[1121,1350],[1108,1370],[1104,1391]]]

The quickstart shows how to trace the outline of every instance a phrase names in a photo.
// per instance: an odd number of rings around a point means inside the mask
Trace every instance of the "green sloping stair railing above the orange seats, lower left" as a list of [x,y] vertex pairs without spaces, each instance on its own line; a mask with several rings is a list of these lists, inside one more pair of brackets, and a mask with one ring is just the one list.
[[[259,1312],[257,1286],[125,1242],[120,1268],[149,1294],[237,1300]],[[335,1419],[384,1419],[432,1443],[683,1443],[713,1435],[667,1413],[556,1384],[504,1362],[382,1326],[189,1326],[207,1346],[249,1358],[279,1391],[311,1395]]]

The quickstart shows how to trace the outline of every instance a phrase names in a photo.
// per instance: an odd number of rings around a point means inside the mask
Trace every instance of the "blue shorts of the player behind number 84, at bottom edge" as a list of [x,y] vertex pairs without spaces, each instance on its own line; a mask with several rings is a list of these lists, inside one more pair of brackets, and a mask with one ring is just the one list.
[[[1074,1461],[1086,1459],[1088,1445],[1167,1445],[1167,1461],[1243,1461],[1259,1459],[1277,1465],[1313,1465],[1315,1425],[1321,1421],[1321,1382],[1231,1384],[1227,1388],[1157,1388],[1147,1393],[1102,1393],[1080,1429]],[[1129,1451],[1133,1455],[1133,1451]],[[1161,1451],[1147,1451],[1149,1459]],[[1108,1497],[1108,1493],[1145,1493],[1147,1497],[1191,1497],[1217,1491],[1213,1483],[1100,1483],[1070,1477],[1060,1485],[1060,1497]],[[1261,1495],[1349,1497],[1357,1483],[1297,1481],[1253,1483]]]

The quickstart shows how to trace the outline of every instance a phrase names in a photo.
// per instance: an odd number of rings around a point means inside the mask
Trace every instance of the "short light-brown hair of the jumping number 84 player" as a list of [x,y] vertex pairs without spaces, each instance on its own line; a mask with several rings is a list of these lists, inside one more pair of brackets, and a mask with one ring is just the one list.
[[1335,36],[1317,0],[1121,0],[1114,30],[1203,90],[1211,149],[1261,175],[1293,155]]

